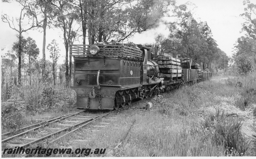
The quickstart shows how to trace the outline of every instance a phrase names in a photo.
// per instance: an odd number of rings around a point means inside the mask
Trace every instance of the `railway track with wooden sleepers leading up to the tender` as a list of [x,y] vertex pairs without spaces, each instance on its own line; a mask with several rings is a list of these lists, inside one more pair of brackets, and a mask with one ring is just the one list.
[[[118,110],[121,109],[123,108]],[[2,154],[4,148],[35,146],[44,142],[45,139],[48,139],[47,143],[52,143],[112,112],[115,111],[97,112],[95,114],[83,110],[26,126],[15,132],[4,133],[2,134]]]

